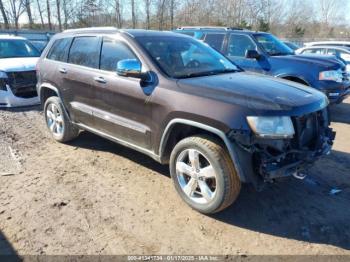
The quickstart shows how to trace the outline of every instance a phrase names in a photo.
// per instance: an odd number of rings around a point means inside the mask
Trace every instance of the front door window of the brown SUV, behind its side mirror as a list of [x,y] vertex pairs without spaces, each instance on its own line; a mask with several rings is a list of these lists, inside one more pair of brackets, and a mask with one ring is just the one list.
[[117,63],[123,59],[137,59],[134,53],[124,43],[112,39],[104,39],[101,51],[100,68],[116,71]]

